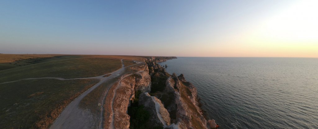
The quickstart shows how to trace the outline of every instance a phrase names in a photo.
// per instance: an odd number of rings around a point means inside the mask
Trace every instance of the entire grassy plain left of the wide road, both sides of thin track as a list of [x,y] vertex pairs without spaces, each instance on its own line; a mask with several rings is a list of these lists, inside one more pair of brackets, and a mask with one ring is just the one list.
[[[120,69],[120,59],[127,61],[126,66],[128,60],[143,60],[131,56],[0,54],[0,83],[25,78],[95,77]],[[0,128],[47,128],[70,102],[98,82],[32,79],[0,84]]]

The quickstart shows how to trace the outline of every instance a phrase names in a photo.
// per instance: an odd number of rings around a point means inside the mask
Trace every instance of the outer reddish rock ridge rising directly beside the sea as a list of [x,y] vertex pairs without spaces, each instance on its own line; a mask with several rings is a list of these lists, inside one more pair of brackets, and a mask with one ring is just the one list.
[[[175,73],[169,75],[154,60],[149,60],[147,64],[152,81],[150,95],[158,98],[169,112],[170,125],[167,123],[167,126],[163,127],[170,129],[211,128],[210,124],[207,125],[207,120],[199,107],[195,86],[186,81],[183,74],[180,76]],[[143,105],[143,102],[139,101]],[[150,110],[148,106],[145,106],[145,108]],[[154,112],[154,109],[150,111]]]

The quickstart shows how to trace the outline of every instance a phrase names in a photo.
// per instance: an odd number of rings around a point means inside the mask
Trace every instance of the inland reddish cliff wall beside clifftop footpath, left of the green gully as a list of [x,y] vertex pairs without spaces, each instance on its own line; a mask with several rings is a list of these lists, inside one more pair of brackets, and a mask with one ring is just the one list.
[[[133,74],[124,75],[118,83],[111,89],[113,94],[113,107],[110,107],[111,115],[105,125],[114,125],[116,129],[128,129],[130,126],[130,116],[127,114],[128,106],[135,98],[135,92],[150,92],[150,75],[148,66],[138,65],[130,68]],[[109,128],[113,128],[109,126]]]

